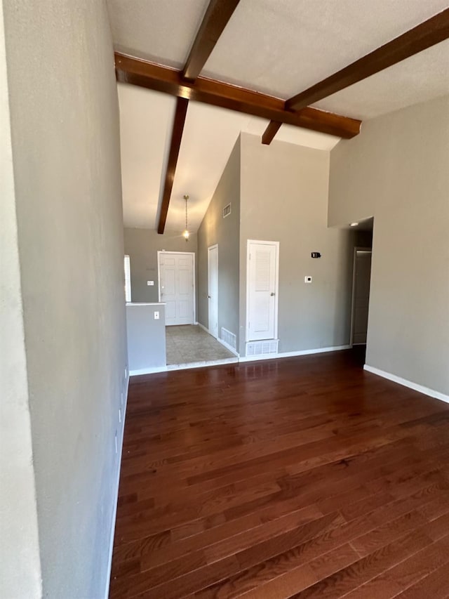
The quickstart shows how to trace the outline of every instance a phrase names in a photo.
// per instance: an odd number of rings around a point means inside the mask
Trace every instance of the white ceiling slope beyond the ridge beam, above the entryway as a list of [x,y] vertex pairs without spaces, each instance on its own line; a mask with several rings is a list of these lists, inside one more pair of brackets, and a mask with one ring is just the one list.
[[[165,93],[119,84],[123,221],[126,227],[156,228],[157,208],[168,160],[175,98]],[[212,199],[239,133],[261,136],[267,121],[224,108],[190,102],[187,109],[167,230],[196,231]],[[277,141],[330,150],[340,138],[285,125]],[[268,149],[268,147],[267,147]]]

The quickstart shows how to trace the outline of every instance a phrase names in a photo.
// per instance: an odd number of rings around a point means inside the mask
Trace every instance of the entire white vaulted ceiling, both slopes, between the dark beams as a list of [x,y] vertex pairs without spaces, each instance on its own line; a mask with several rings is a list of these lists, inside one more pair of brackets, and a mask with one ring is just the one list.
[[[108,0],[116,50],[180,68],[208,0]],[[448,8],[449,0],[241,0],[201,74],[288,98]],[[449,41],[316,107],[370,119],[449,93]],[[119,85],[124,218],[154,228],[175,100]],[[267,121],[189,104],[167,228],[195,230],[240,131]],[[283,125],[276,140],[328,150],[337,138]]]

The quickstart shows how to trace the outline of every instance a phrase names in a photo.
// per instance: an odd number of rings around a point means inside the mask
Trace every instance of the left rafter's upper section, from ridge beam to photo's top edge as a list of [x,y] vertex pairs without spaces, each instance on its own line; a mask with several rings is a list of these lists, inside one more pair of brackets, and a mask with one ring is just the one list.
[[210,1],[182,70],[182,79],[194,81],[199,76],[238,4],[239,0]]

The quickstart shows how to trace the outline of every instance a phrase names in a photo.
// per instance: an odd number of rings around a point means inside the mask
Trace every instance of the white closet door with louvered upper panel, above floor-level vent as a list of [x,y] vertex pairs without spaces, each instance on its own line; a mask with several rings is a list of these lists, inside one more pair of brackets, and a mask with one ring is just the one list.
[[277,336],[278,254],[276,242],[248,242],[246,341]]

